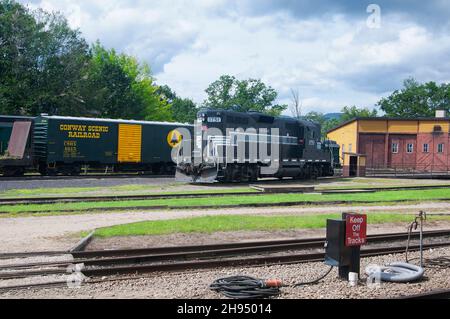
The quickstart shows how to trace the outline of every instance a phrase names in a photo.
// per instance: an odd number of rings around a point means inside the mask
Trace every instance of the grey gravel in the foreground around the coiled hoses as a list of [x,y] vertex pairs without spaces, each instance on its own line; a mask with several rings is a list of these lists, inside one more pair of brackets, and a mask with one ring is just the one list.
[[[410,255],[418,257],[418,253]],[[450,248],[427,250],[426,258],[450,256]],[[364,258],[362,273],[367,265],[385,265],[404,261],[404,254]],[[319,277],[327,271],[322,263],[287,266],[216,269],[177,274],[152,274],[145,278],[105,281],[99,284],[84,284],[79,289],[54,288],[13,291],[0,294],[0,298],[163,298],[163,299],[212,299],[220,295],[210,291],[209,285],[217,278],[232,275],[249,275],[257,278],[279,278],[287,284],[304,282]],[[283,299],[373,299],[396,298],[450,288],[450,269],[426,269],[423,281],[409,284],[383,283],[379,287],[366,285],[366,275],[357,287],[350,287],[337,277],[337,270],[317,285],[299,288],[283,288]]]

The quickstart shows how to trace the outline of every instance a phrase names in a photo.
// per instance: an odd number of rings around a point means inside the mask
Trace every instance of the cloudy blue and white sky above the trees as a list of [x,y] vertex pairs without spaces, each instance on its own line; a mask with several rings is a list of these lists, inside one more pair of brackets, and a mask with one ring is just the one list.
[[408,77],[450,80],[446,0],[20,2],[64,13],[88,41],[148,62],[159,84],[199,103],[222,74],[261,78],[281,103],[298,89],[303,112],[374,107]]

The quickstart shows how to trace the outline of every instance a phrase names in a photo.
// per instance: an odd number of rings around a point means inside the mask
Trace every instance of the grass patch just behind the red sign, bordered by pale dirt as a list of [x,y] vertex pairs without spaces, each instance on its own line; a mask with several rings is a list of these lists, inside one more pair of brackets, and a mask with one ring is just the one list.
[[[215,233],[257,230],[319,229],[326,227],[326,220],[340,218],[340,214],[307,216],[206,216],[188,219],[139,222],[101,228],[96,237],[168,235],[174,233]],[[369,224],[410,222],[413,215],[369,214]],[[433,216],[431,220],[450,220],[447,216]],[[83,234],[85,235],[85,234]]]

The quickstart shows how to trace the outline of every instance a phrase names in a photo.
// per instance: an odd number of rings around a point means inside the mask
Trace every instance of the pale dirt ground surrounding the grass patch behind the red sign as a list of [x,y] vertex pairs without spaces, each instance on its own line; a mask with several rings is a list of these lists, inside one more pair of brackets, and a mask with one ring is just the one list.
[[[42,216],[42,217],[20,217],[0,219],[0,253],[18,251],[47,251],[67,250],[75,245],[80,237],[81,231],[90,231],[100,227],[119,224],[133,223],[149,220],[163,220],[188,218],[211,215],[298,215],[298,214],[329,214],[340,212],[404,212],[414,213],[419,210],[428,212],[446,213],[450,209],[450,203],[424,203],[420,205],[399,206],[359,206],[359,207],[289,207],[289,208],[245,208],[245,209],[223,209],[223,210],[180,210],[180,211],[156,211],[156,212],[124,212],[107,214],[83,214],[67,216]],[[440,222],[433,227],[450,228],[449,222]],[[376,231],[403,231],[406,225],[384,225],[371,226],[369,233]],[[427,229],[431,229],[427,227]],[[322,231],[323,232],[323,231]],[[118,248],[118,247],[148,247],[153,245],[180,245],[180,244],[202,244],[217,241],[233,240],[258,240],[276,239],[304,236],[322,236],[318,231],[312,233],[310,230],[287,231],[287,232],[233,232],[232,234],[217,233],[213,235],[169,235],[151,236],[151,238],[130,238],[129,242],[122,239],[111,239],[108,243],[95,241],[92,247]]]

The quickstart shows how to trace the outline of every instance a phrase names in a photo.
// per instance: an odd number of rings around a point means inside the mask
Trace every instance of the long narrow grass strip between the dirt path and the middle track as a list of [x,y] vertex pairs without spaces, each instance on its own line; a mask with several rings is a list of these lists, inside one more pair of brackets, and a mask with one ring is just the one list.
[[113,201],[113,202],[83,202],[83,203],[57,203],[39,205],[3,205],[1,212],[24,213],[24,212],[64,212],[64,211],[89,211],[92,209],[114,208],[139,208],[149,206],[164,206],[170,208],[177,207],[226,207],[231,205],[244,204],[278,204],[278,203],[302,203],[302,202],[333,202],[346,201],[352,203],[395,203],[398,201],[432,201],[436,199],[450,199],[450,189],[430,189],[430,190],[406,190],[406,191],[385,191],[378,193],[363,194],[268,194],[268,195],[248,195],[248,196],[227,196],[227,197],[205,197],[205,198],[182,198],[182,199],[155,199],[136,201]]

